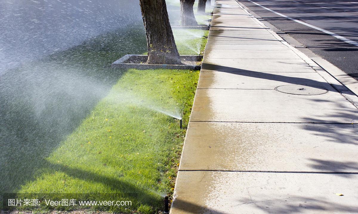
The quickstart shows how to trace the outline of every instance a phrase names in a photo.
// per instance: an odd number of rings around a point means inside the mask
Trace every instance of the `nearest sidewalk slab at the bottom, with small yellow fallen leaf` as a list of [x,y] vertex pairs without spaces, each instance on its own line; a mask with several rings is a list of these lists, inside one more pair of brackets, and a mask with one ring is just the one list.
[[356,174],[179,171],[170,213],[351,214],[357,189]]

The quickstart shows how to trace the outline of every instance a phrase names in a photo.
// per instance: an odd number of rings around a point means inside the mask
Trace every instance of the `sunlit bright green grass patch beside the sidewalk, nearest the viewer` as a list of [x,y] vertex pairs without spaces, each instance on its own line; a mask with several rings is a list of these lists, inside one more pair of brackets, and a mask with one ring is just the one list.
[[[172,193],[197,79],[198,71],[128,70],[19,193],[132,202],[94,206],[109,211],[161,207],[161,195]],[[183,129],[179,120],[149,105],[182,112]]]

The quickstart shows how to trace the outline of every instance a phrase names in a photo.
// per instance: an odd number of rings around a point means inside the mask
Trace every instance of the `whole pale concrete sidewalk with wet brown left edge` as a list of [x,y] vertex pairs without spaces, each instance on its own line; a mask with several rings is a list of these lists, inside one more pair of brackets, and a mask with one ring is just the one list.
[[236,1],[217,6],[170,213],[358,213],[357,97]]

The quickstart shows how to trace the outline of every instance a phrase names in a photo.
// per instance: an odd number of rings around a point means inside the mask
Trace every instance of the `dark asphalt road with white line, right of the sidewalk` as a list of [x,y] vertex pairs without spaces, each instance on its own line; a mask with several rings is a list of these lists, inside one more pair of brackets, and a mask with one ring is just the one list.
[[358,80],[358,47],[323,31],[311,28],[277,13],[358,42],[358,1],[349,0],[238,0],[276,28],[302,43]]

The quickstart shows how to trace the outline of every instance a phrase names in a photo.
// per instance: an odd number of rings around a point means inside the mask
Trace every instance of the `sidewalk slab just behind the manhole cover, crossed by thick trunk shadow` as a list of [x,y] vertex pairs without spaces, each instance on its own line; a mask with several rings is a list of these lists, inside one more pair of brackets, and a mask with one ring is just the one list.
[[274,89],[287,84],[318,86],[334,90],[316,72],[202,72],[197,88]]

